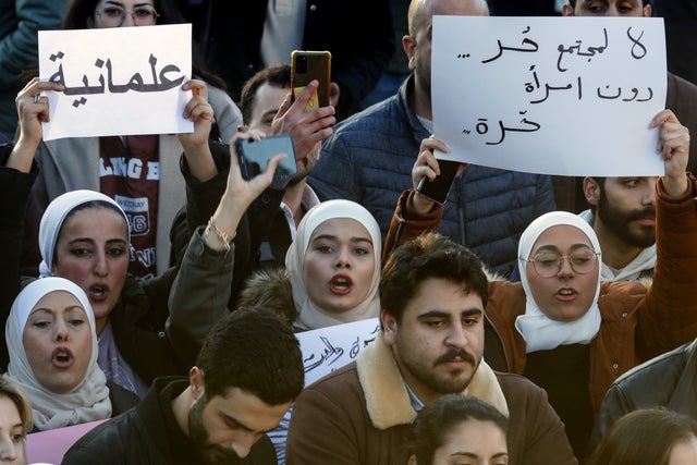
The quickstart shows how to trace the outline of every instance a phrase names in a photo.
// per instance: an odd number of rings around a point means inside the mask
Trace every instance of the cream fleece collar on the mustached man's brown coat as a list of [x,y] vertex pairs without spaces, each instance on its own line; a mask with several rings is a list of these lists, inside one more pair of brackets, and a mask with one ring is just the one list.
[[[382,333],[360,351],[356,369],[372,426],[387,429],[414,423],[416,412],[412,408],[404,380]],[[493,405],[503,415],[509,416],[509,407],[499,381],[484,360],[479,364],[468,390],[469,395]]]

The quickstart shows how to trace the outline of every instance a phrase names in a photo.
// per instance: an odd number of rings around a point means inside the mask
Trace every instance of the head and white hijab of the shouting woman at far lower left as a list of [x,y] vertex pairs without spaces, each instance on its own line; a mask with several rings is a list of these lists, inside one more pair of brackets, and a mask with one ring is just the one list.
[[95,314],[83,290],[63,278],[29,283],[5,323],[5,377],[29,397],[34,427],[48,430],[111,416],[97,365]]

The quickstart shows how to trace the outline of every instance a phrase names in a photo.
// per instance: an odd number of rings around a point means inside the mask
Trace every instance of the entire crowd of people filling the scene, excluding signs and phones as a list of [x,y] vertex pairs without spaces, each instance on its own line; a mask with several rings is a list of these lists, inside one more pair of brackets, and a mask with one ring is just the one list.
[[[95,423],[62,463],[697,463],[695,84],[669,72],[647,118],[661,176],[462,163],[444,204],[419,192],[451,151],[435,15],[651,1],[36,0],[53,19],[34,33],[20,3],[16,37],[193,23],[193,132],[44,140],[65,87],[35,59],[4,65],[0,38],[0,462]],[[311,106],[317,82],[291,88],[303,48],[332,53],[330,106]],[[249,175],[237,143],[273,135],[294,152]],[[158,175],[103,169],[126,158]],[[375,339],[307,386],[297,335],[367,319]]]

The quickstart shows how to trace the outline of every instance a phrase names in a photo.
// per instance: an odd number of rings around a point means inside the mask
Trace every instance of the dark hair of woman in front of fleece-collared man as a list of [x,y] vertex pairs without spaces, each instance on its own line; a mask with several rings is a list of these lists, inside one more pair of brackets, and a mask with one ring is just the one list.
[[416,455],[419,465],[431,465],[448,436],[468,420],[491,421],[504,435],[509,431],[509,419],[493,406],[469,395],[448,394],[427,404],[416,416],[407,442],[409,455]]

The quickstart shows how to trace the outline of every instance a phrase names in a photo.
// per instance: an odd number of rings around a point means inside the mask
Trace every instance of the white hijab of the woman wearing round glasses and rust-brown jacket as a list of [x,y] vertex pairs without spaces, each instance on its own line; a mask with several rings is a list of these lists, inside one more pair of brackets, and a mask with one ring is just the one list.
[[[596,232],[590,224],[576,215],[566,211],[551,211],[533,221],[523,232],[518,243],[518,269],[521,270],[521,281],[525,290],[525,315],[521,315],[515,320],[515,328],[525,340],[525,352],[548,351],[560,345],[588,344],[598,334],[600,329],[600,309],[598,308],[598,295],[600,293],[600,271],[598,271],[598,283],[596,295],[592,298],[590,308],[583,317],[574,321],[557,321],[549,318],[537,306],[530,285],[527,281],[527,262],[533,246],[538,237],[549,228],[567,224],[578,228],[590,241],[592,248],[600,253],[600,243]],[[601,260],[601,257],[598,257]]]

